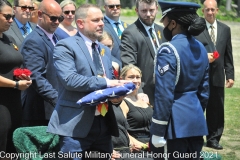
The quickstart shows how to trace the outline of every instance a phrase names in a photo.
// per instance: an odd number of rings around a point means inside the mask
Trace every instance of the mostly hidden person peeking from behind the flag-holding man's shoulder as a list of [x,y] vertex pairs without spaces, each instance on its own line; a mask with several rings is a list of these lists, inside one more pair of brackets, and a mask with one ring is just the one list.
[[[113,38],[108,32],[103,31],[103,34],[101,37],[98,38],[98,41],[101,42],[102,44],[104,44],[105,46],[107,46],[112,51],[113,46],[114,46]],[[114,69],[114,76],[116,79],[118,79],[120,67],[119,67],[118,63],[116,63],[114,61],[112,61],[112,66]]]

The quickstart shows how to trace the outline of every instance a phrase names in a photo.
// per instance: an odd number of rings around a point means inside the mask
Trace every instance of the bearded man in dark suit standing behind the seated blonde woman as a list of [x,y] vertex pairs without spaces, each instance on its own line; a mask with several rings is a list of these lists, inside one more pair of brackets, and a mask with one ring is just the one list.
[[137,0],[138,20],[124,30],[120,45],[123,66],[131,63],[142,70],[142,89],[149,96],[152,105],[154,105],[154,58],[163,38],[163,27],[154,23],[157,11],[157,0]]

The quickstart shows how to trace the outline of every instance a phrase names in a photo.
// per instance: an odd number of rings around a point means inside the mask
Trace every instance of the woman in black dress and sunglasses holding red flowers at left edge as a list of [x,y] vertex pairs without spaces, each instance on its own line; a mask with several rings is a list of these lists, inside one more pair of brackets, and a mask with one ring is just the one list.
[[22,126],[21,90],[32,81],[22,74],[15,77],[14,69],[21,67],[23,58],[14,39],[6,35],[13,22],[12,5],[0,0],[0,151],[16,153],[12,142],[13,131]]

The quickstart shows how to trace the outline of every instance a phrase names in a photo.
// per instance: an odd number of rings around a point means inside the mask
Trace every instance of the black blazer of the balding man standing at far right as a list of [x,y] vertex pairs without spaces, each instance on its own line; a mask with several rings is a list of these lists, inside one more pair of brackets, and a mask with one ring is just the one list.
[[210,64],[209,77],[211,85],[216,87],[224,87],[225,75],[226,79],[234,80],[230,27],[217,21],[216,47],[214,47],[207,29],[205,29],[196,38],[203,43],[208,52],[217,50],[220,55],[218,59]]

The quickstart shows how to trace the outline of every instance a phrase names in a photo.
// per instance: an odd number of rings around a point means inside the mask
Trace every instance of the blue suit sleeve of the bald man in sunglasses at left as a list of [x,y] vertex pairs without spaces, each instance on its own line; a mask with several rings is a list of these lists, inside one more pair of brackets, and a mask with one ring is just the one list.
[[47,73],[47,66],[52,65],[52,70],[55,69],[53,64],[51,64],[53,63],[52,60],[46,53],[48,52],[47,47],[47,44],[43,40],[28,39],[23,43],[20,51],[23,55],[24,67],[32,72],[33,88],[47,102],[54,105],[58,92],[53,88],[48,79],[46,79],[46,74],[49,74]]

